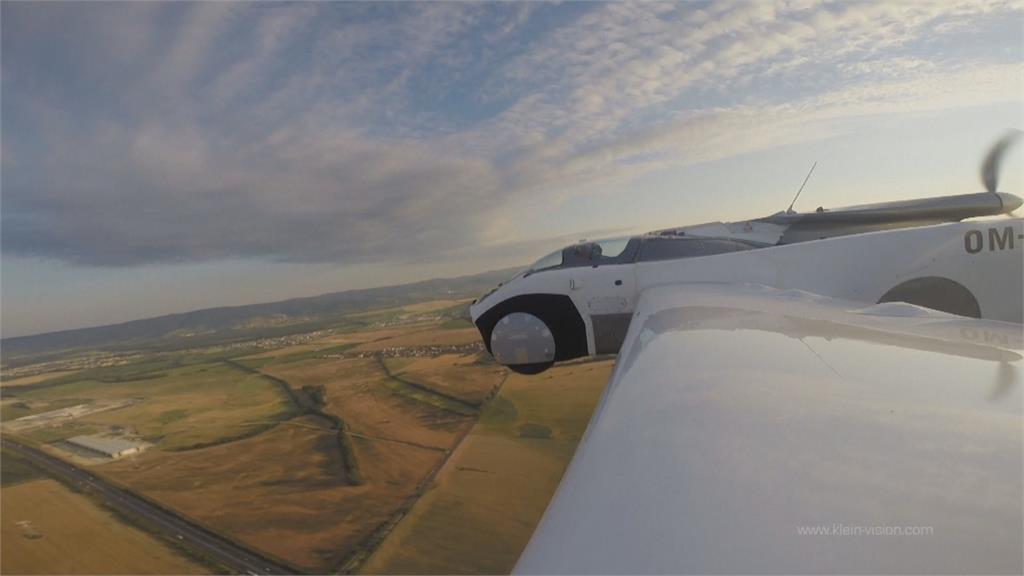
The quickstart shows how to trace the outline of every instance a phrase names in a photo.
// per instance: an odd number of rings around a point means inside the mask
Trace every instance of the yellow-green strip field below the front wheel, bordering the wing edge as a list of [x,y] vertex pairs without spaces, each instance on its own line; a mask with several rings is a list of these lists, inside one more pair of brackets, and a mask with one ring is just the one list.
[[365,574],[503,574],[586,429],[611,361],[511,376]]

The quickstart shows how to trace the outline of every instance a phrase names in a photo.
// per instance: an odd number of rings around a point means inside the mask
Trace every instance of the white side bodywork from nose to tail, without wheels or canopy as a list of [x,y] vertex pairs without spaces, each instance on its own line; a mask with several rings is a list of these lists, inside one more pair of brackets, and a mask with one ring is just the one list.
[[1022,322],[1024,220],[944,223],[712,256],[541,271],[512,280],[470,312],[476,321],[513,296],[568,295],[587,326],[588,349],[595,354],[588,311],[597,298],[625,300],[624,312],[632,312],[638,295],[653,286],[751,282],[874,303],[898,284],[925,277],[962,284],[977,299],[982,318]]

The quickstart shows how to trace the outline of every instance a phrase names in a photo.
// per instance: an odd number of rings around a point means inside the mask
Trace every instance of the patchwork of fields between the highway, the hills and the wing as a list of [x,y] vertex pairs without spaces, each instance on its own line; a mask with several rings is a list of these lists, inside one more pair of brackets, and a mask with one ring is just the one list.
[[[4,422],[67,407],[82,415],[5,434],[302,571],[508,571],[609,367],[510,375],[482,352],[467,303],[360,311],[229,345],[119,352],[79,370],[54,371],[61,361],[47,357],[48,372],[23,364],[29,375],[5,383]],[[153,446],[83,459],[62,443],[80,435]],[[22,484],[4,496],[37,482],[10,461],[5,479]]]

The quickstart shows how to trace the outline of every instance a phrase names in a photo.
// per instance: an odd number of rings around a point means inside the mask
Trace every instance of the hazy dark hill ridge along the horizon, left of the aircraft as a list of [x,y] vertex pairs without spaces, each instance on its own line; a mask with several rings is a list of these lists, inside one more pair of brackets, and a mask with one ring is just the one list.
[[[483,294],[514,270],[426,280],[399,286],[346,290],[278,302],[221,306],[121,324],[0,340],[3,363],[75,349],[174,349],[315,330],[368,308]],[[22,362],[19,362],[19,360]]]

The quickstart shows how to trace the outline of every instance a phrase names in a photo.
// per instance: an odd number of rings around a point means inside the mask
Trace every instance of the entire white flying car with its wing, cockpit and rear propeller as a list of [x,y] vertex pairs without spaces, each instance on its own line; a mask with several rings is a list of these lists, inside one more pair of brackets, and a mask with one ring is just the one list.
[[1022,573],[1009,141],[985,193],[581,242],[474,302],[517,372],[617,354],[513,572]]

